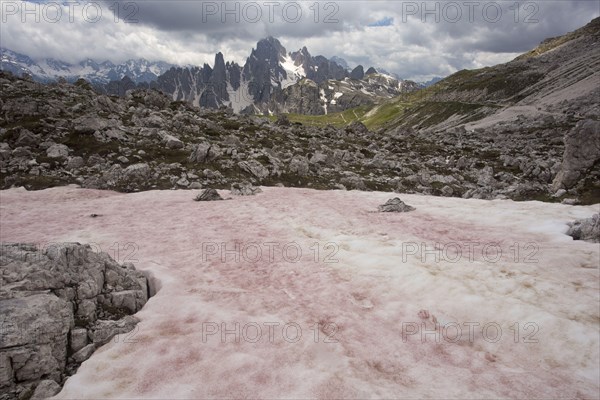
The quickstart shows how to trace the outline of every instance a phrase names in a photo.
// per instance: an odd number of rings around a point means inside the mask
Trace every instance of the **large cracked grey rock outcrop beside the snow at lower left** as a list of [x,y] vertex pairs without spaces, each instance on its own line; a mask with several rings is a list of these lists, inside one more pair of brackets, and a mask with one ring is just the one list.
[[147,300],[143,273],[88,245],[0,245],[0,398],[55,394],[98,346],[135,327],[129,314]]

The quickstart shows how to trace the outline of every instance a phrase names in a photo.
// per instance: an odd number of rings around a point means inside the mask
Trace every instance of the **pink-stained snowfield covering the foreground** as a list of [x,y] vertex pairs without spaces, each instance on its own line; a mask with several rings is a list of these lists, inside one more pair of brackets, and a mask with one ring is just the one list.
[[0,240],[160,281],[57,398],[598,398],[600,249],[564,234],[598,205],[263,190],[0,192]]

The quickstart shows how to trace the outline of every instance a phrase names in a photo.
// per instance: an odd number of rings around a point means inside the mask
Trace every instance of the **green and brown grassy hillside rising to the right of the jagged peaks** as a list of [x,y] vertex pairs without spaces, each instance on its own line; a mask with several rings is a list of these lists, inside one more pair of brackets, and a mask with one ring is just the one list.
[[600,18],[564,36],[545,40],[515,60],[493,67],[462,70],[428,88],[404,94],[375,106],[363,106],[322,116],[289,115],[306,125],[348,125],[363,122],[369,129],[406,126],[428,128],[452,119],[456,124],[476,121],[500,107],[521,100],[525,89],[544,78],[528,59],[544,54],[582,35],[598,35]]

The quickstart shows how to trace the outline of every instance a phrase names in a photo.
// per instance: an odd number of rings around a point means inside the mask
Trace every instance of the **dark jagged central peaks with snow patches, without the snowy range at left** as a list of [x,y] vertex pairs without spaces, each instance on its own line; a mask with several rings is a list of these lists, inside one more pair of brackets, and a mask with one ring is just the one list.
[[312,56],[306,47],[288,53],[279,40],[268,37],[257,43],[243,67],[225,63],[218,53],[213,68],[172,68],[150,87],[201,107],[310,115],[372,105],[420,89],[374,68],[365,73],[360,65],[352,71],[346,67],[343,59]]

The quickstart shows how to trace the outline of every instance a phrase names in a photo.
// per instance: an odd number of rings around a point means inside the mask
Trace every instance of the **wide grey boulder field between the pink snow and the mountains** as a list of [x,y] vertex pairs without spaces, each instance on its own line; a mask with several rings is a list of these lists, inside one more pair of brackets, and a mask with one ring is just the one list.
[[[591,129],[583,137],[593,145],[593,120],[573,122],[573,128],[548,116],[523,120],[517,129],[498,124],[473,131],[397,127],[372,132],[356,122],[304,126],[285,117],[271,121],[197,108],[154,90],[99,96],[85,81],[43,85],[2,73],[0,87],[2,188],[73,183],[139,191],[249,182],[598,201],[598,163],[593,161],[598,153],[574,162],[580,152],[571,149],[581,144],[568,139],[565,149],[563,140],[565,133],[578,137],[577,132]],[[573,168],[578,172],[565,172]],[[553,185],[559,173],[568,176],[568,185]]]

